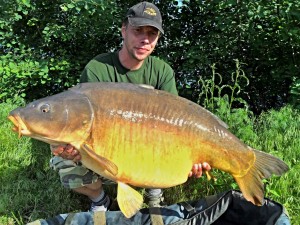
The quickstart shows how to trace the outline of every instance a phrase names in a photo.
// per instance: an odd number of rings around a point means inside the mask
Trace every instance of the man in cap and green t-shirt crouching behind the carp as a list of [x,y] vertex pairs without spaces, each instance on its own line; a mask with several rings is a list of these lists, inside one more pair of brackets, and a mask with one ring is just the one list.
[[[96,56],[85,67],[81,82],[127,82],[151,85],[156,89],[177,95],[172,68],[162,60],[150,56],[158,38],[164,33],[158,8],[148,2],[131,7],[122,23],[123,45],[120,51]],[[102,188],[108,183],[104,178],[81,166],[80,155],[72,146],[52,146],[55,157],[51,160],[59,170],[65,187],[88,196],[92,200],[92,211],[106,211],[110,198]],[[210,170],[207,163],[195,164],[189,174],[202,175],[202,168]],[[159,206],[162,201],[161,189],[146,191],[148,205]]]

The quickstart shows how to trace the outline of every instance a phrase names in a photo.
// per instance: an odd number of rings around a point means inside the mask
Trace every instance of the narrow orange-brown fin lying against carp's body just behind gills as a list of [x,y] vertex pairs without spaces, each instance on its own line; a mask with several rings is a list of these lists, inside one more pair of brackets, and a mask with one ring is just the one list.
[[97,155],[93,151],[91,146],[84,143],[81,145],[81,148],[84,149],[91,158],[96,160],[104,169],[109,171],[112,175],[116,176],[118,174],[118,167],[112,161],[110,161],[100,155]]

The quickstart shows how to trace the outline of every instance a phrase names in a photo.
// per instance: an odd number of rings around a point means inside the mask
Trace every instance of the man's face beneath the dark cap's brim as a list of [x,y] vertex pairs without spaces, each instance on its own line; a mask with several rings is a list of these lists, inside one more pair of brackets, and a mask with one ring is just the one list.
[[127,49],[129,56],[138,61],[143,61],[153,52],[159,37],[159,31],[151,26],[133,27],[128,24],[122,26],[122,36],[124,47]]

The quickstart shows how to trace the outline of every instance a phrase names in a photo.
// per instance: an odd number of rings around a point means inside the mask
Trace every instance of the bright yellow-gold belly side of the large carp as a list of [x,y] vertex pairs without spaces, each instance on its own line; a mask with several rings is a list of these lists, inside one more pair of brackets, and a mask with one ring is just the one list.
[[115,120],[114,124],[102,122],[102,135],[94,132],[98,136],[93,140],[95,153],[118,167],[118,174],[109,178],[145,188],[184,183],[193,164],[191,145],[176,130],[167,132],[166,128],[149,126],[153,124],[141,126]]

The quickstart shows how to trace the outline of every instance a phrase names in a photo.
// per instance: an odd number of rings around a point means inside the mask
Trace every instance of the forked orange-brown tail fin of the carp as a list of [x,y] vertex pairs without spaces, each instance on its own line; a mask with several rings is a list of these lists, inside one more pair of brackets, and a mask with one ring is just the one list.
[[252,150],[256,156],[254,165],[246,175],[234,178],[248,201],[251,201],[255,205],[262,205],[264,198],[262,179],[269,178],[272,174],[282,175],[289,168],[279,158],[255,149]]

